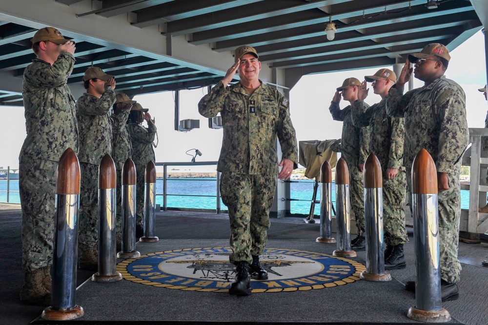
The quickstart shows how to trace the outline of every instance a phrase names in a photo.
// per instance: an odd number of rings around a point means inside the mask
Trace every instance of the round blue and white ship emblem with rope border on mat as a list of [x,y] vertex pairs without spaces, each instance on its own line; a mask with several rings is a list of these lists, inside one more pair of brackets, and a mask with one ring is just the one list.
[[[170,289],[228,292],[235,266],[229,247],[186,248],[142,255],[117,264],[125,280]],[[286,292],[345,285],[366,267],[327,254],[266,248],[260,256],[268,280],[252,281],[252,292]]]

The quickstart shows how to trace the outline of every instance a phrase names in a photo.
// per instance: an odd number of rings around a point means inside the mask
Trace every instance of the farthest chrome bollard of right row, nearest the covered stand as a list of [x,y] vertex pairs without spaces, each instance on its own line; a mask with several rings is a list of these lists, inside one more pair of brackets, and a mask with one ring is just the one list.
[[332,168],[327,161],[320,167],[320,237],[317,243],[336,243],[332,237]]

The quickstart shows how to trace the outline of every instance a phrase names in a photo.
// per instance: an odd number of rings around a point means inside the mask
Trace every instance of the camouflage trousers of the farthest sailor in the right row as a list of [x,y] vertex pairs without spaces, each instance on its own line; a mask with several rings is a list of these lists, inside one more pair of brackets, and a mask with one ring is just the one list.
[[363,173],[358,166],[348,166],[349,168],[349,200],[351,209],[356,218],[358,236],[365,237],[365,202],[364,202],[364,183]]

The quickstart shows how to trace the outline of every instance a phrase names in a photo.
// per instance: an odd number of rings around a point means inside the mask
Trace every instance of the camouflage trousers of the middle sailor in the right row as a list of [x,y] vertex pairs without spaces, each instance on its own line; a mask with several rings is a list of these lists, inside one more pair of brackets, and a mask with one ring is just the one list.
[[408,242],[405,228],[405,171],[398,170],[392,179],[383,178],[383,229],[385,244],[395,246]]

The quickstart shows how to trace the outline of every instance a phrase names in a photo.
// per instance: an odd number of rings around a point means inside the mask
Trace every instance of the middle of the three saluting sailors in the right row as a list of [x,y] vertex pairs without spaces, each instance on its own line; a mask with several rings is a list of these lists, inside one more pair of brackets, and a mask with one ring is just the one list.
[[358,91],[358,100],[352,104],[352,121],[355,126],[369,126],[369,148],[378,158],[383,174],[383,220],[385,235],[385,269],[405,268],[403,245],[408,242],[405,229],[405,191],[407,187],[403,167],[405,127],[403,118],[386,115],[386,95],[396,82],[396,75],[389,69],[380,69],[373,76],[373,91],[381,102],[366,108],[364,100],[369,89],[366,81]]

